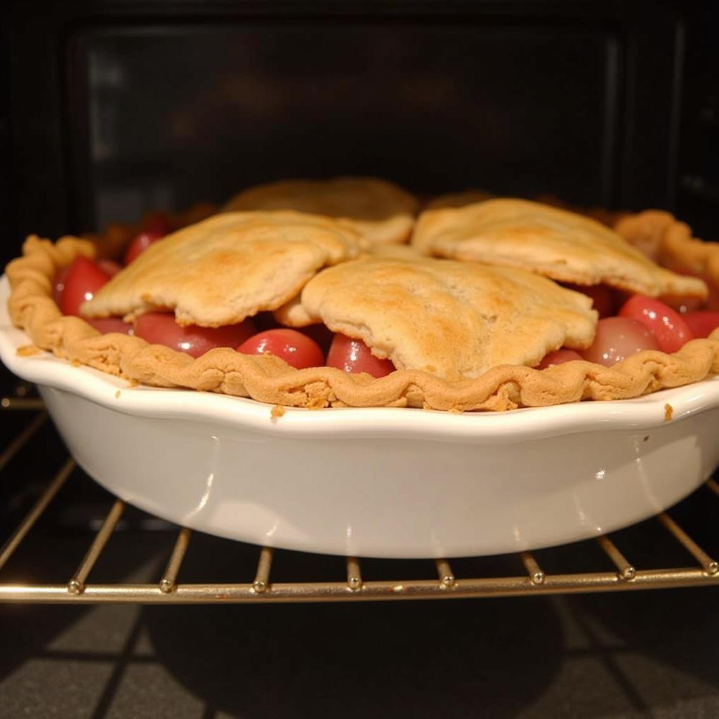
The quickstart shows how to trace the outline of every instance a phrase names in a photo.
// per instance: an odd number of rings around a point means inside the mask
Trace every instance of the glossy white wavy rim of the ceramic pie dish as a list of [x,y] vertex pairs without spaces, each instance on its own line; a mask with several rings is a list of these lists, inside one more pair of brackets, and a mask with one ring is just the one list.
[[[0,278],[0,296],[5,297],[7,292],[6,278]],[[672,407],[672,424],[719,407],[717,376],[612,403],[577,402],[511,412],[465,413],[388,407],[329,411],[283,408],[278,418],[276,412],[273,414],[274,406],[251,398],[143,385],[131,390],[119,377],[83,365],[73,366],[47,352],[28,361],[15,353],[26,339],[22,331],[6,321],[4,329],[0,328],[0,359],[24,380],[52,388],[49,394],[44,392],[51,408],[55,402],[60,406],[61,398],[55,400],[57,392],[83,398],[129,418],[206,423],[214,434],[240,430],[278,439],[426,439],[495,446],[597,429],[632,431],[643,438],[654,429],[668,426],[667,404]]]

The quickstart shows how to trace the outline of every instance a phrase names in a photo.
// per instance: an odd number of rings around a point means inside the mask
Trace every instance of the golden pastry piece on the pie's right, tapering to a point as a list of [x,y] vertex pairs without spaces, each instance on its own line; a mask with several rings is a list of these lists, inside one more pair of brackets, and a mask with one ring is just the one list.
[[412,243],[427,255],[521,267],[577,285],[651,297],[705,297],[697,278],[659,267],[588,217],[537,202],[496,199],[423,212]]

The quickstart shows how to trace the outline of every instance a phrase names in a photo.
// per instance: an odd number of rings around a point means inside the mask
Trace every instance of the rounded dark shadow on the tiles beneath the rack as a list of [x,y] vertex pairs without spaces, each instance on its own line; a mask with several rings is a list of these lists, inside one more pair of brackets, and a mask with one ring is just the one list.
[[247,719],[516,715],[562,659],[546,600],[147,607],[157,656]]

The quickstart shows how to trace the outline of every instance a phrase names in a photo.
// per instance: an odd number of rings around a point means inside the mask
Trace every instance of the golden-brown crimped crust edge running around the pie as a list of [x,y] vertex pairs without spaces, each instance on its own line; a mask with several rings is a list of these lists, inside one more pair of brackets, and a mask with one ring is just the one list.
[[[686,228],[672,218],[664,227],[663,237],[671,239],[672,247],[686,244],[692,257],[702,255],[702,266],[714,277],[719,244],[685,237],[684,229],[677,239],[677,226]],[[295,370],[277,357],[248,356],[229,348],[214,349],[193,359],[138,337],[101,335],[80,318],[63,317],[51,298],[52,280],[58,267],[69,264],[78,254],[92,256],[93,245],[75,237],[65,237],[56,244],[36,236],[26,240],[23,256],[6,270],[12,323],[27,332],[35,347],[57,357],[153,387],[188,388],[308,409],[349,406],[504,411],[584,399],[636,398],[719,373],[719,329],[708,339],[688,342],[675,354],[646,350],[611,368],[584,361],[546,370],[504,365],[473,380],[452,382],[418,370],[395,370],[379,379],[349,375],[332,367]]]

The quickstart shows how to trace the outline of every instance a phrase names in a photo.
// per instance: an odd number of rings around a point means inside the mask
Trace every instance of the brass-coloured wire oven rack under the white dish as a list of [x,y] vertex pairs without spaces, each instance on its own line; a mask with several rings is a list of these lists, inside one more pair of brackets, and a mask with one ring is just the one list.
[[[24,429],[0,453],[0,472],[11,459],[37,434],[47,421],[42,400],[32,397],[4,397],[0,399],[3,413],[27,413],[33,416]],[[434,562],[436,580],[372,581],[362,577],[362,562],[345,557],[346,576],[331,582],[273,582],[270,577],[273,549],[258,548],[257,568],[251,582],[181,582],[180,569],[192,539],[192,530],[178,528],[165,571],[155,583],[93,583],[88,581],[122,513],[125,503],[116,499],[79,562],[74,574],[64,584],[3,583],[2,569],[22,543],[37,520],[50,505],[65,482],[72,477],[75,461],[68,457],[55,472],[19,526],[0,548],[0,603],[142,603],[142,604],[201,604],[201,603],[292,603],[336,602],[408,599],[459,599],[469,597],[511,597],[547,594],[577,594],[587,592],[618,592],[669,587],[719,586],[719,562],[700,547],[690,533],[679,526],[669,513],[661,512],[656,521],[685,550],[694,563],[686,567],[641,569],[635,567],[609,536],[597,536],[608,567],[605,572],[573,572],[552,574],[544,572],[530,551],[518,554],[526,570],[507,577],[460,577],[452,571],[451,559],[428,559]],[[705,492],[719,501],[719,482],[710,479],[697,492]],[[551,550],[548,550],[551,551]]]

